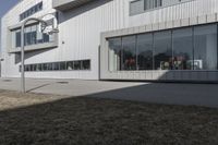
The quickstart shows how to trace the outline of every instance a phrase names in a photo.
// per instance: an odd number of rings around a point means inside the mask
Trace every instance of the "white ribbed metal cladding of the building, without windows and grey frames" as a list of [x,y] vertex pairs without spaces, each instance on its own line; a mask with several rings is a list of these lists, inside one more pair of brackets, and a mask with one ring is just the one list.
[[[41,0],[23,0],[2,19],[2,76],[19,77],[15,53],[9,53],[8,28],[21,23],[19,15]],[[53,12],[52,0],[43,0],[44,10],[33,16]],[[99,47],[102,32],[171,22],[218,12],[217,0],[192,0],[180,4],[149,10],[130,16],[130,0],[98,0],[59,14],[59,46],[27,53],[26,64],[68,60],[90,60],[89,71],[27,72],[27,77],[84,78],[99,77]]]

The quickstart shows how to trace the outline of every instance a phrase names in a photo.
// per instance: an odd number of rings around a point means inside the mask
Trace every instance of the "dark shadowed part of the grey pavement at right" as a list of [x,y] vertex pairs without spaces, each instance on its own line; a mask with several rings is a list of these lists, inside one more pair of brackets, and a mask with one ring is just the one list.
[[216,84],[153,83],[87,95],[88,97],[137,100],[167,105],[218,108]]

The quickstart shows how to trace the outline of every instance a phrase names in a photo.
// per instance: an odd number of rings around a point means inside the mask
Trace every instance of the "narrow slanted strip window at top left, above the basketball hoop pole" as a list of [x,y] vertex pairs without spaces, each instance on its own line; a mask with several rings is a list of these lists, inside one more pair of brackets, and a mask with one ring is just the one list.
[[20,21],[25,20],[26,17],[37,13],[40,10],[43,10],[43,1],[37,3],[36,5],[32,7],[27,11],[23,12],[22,14],[20,14]]

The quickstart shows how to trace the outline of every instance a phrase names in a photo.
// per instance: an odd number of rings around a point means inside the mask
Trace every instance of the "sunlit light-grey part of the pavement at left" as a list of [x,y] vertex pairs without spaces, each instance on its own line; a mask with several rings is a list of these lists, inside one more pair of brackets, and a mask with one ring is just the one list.
[[[68,96],[85,96],[108,90],[122,89],[145,83],[99,82],[82,80],[34,80],[26,78],[26,92]],[[21,90],[20,78],[0,78],[0,89]]]

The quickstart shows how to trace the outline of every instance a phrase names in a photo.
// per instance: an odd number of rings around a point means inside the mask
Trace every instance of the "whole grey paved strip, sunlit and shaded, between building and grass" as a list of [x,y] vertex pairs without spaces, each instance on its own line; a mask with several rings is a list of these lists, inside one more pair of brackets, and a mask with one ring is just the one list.
[[[0,89],[20,90],[19,78],[0,78]],[[218,108],[218,84],[99,82],[81,80],[26,80],[32,93],[126,99],[170,105]]]

